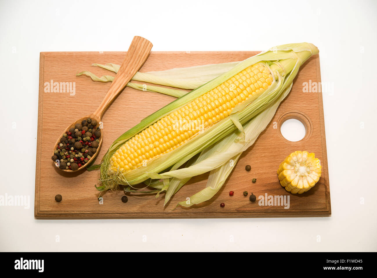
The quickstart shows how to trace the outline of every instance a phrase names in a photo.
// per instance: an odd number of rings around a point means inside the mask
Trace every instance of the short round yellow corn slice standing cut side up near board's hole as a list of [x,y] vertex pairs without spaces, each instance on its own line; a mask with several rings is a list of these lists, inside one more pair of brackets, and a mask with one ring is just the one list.
[[319,181],[321,168],[321,161],[314,153],[294,151],[280,164],[277,175],[287,191],[302,194]]

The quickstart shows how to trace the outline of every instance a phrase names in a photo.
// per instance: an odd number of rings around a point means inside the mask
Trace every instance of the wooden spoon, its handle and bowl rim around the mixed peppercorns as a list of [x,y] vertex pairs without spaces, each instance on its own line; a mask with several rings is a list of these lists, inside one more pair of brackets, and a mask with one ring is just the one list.
[[[82,117],[81,119],[78,119],[77,121],[70,124],[66,128],[66,131],[69,130],[69,128],[71,127],[75,127],[75,125],[78,123],[81,124],[82,120],[86,120],[87,118],[95,119],[99,125],[101,122],[102,115],[104,111],[106,110],[106,108],[115,99],[115,97],[118,96],[118,94],[124,89],[127,83],[131,80],[131,78],[135,75],[135,73],[139,70],[139,68],[141,68],[141,66],[147,60],[147,57],[150,53],[150,49],[152,49],[152,46],[153,46],[152,43],[149,40],[144,39],[143,37],[138,37],[138,36],[133,37],[130,48],[128,49],[126,53],[126,57],[124,58],[123,63],[118,70],[118,73],[116,73],[116,76],[113,82],[111,83],[111,86],[109,90],[107,91],[106,96],[102,100],[100,106],[97,108],[97,110],[93,114]],[[64,131],[61,134],[61,136],[58,138],[58,140],[56,141],[54,151],[56,150],[56,147],[58,147],[58,144],[60,144],[60,139],[61,137],[63,137],[66,131]],[[91,161],[92,159],[95,158],[95,156],[97,156],[98,150],[102,145],[103,132],[101,129],[100,131],[101,131],[101,136],[100,138],[97,138],[100,140],[100,142],[98,143],[97,151],[93,154],[93,156],[89,159],[89,161]],[[81,167],[79,167],[75,171],[81,170],[84,167],[86,167],[88,165],[88,162],[83,164]],[[66,171],[66,172],[75,172],[73,170],[66,170],[66,169],[60,169],[60,170]]]

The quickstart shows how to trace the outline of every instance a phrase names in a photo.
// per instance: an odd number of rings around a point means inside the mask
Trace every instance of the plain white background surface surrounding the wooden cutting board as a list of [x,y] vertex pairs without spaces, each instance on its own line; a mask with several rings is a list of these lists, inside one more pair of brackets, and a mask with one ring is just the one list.
[[[32,204],[0,207],[0,251],[377,251],[376,3],[1,0],[0,195]],[[334,82],[323,93],[332,216],[35,220],[39,53],[126,51],[135,35],[153,51],[314,43]]]

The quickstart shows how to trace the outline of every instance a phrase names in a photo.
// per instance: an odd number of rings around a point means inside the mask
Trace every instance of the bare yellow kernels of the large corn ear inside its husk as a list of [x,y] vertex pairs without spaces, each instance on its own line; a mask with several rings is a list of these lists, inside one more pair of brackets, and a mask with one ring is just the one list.
[[[267,89],[272,80],[271,72],[264,64],[247,67],[127,141],[113,154],[109,173],[136,169],[185,144],[201,128],[228,117],[238,103]],[[177,128],[179,122],[184,122],[185,126]]]

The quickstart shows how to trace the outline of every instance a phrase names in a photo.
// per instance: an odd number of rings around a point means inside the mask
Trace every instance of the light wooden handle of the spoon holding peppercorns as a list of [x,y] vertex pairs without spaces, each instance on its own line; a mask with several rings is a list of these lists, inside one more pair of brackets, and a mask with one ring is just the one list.
[[106,96],[102,100],[100,106],[94,112],[94,115],[98,116],[100,119],[102,118],[102,114],[106,108],[115,99],[115,97],[118,96],[118,94],[123,90],[123,88],[147,60],[152,46],[152,43],[143,37],[133,37],[130,48],[126,53],[126,57],[124,58],[118,73],[116,73]]

